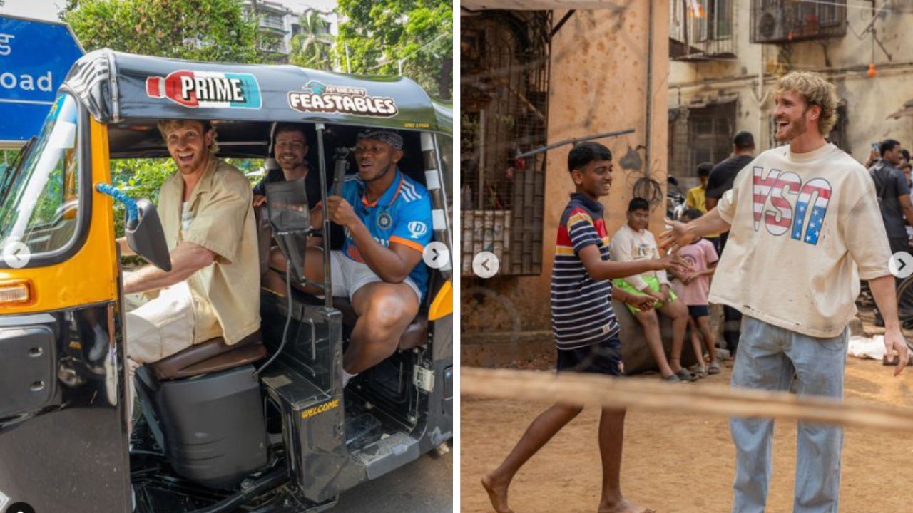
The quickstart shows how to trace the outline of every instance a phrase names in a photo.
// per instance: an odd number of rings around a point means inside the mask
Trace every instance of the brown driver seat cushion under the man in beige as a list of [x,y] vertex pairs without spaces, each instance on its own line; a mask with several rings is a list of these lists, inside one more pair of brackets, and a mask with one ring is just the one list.
[[205,340],[148,364],[160,382],[225,371],[267,356],[260,330],[228,345],[222,337]]

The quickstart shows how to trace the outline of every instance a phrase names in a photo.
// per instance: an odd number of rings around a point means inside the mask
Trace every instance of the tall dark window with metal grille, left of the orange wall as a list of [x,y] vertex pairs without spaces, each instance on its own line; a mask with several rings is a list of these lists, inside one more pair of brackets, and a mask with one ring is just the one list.
[[499,274],[538,275],[542,258],[551,12],[485,11],[460,33],[460,215],[464,275],[491,251]]

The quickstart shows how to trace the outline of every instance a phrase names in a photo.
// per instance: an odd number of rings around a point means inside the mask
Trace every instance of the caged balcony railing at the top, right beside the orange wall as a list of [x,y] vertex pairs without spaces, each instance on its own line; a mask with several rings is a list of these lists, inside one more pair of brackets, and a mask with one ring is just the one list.
[[733,0],[672,0],[669,57],[676,60],[735,58]]

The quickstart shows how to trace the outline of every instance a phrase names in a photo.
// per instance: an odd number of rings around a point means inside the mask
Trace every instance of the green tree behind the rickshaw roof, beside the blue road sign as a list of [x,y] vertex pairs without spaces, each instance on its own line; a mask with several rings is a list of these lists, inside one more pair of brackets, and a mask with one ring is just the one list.
[[69,0],[61,13],[87,51],[257,62],[257,20],[236,0]]

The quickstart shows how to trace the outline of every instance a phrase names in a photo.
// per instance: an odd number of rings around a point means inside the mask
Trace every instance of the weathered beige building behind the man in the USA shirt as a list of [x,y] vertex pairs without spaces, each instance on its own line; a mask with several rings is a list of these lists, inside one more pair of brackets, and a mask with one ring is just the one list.
[[857,161],[887,137],[913,147],[911,22],[908,0],[673,0],[669,173],[695,185],[698,163],[729,156],[737,131],[751,131],[759,152],[776,145],[771,91],[792,70],[834,82],[829,139]]

